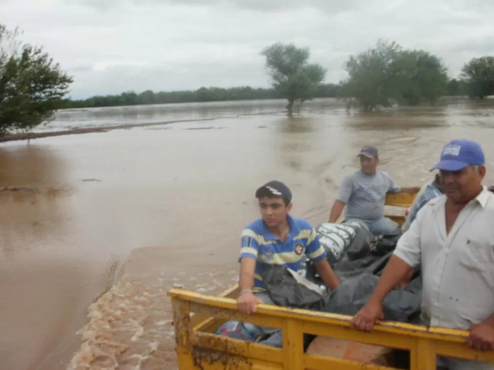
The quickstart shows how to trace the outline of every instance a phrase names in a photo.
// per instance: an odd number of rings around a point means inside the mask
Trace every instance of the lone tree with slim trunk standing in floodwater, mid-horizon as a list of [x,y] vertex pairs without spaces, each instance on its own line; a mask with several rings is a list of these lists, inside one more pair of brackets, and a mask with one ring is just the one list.
[[266,58],[266,68],[273,87],[288,100],[288,114],[299,100],[312,99],[319,84],[324,80],[326,70],[319,64],[309,64],[309,48],[294,44],[273,44],[261,51]]

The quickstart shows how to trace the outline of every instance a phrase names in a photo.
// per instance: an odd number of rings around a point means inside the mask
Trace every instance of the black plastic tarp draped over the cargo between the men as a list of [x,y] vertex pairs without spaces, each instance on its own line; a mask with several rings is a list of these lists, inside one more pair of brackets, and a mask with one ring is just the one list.
[[[333,265],[341,281],[335,290],[310,289],[323,285],[314,266],[308,264],[305,275],[295,278],[293,272],[281,266],[273,266],[263,274],[267,292],[278,305],[306,308],[336,314],[355,315],[367,302],[375,289],[379,276],[386,266],[401,235],[400,231],[380,237],[372,236],[362,227],[359,237],[346,250],[343,257]],[[409,322],[420,314],[422,276],[420,267],[404,288],[396,287],[383,302],[385,320]]]

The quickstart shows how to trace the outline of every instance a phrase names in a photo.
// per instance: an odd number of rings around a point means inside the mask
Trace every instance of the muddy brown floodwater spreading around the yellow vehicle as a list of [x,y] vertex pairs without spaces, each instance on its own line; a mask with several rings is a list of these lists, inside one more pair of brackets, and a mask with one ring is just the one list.
[[411,186],[431,177],[446,141],[475,139],[494,182],[488,102],[348,115],[317,100],[291,119],[283,105],[60,112],[50,127],[98,125],[91,115],[121,124],[122,111],[131,123],[197,121],[2,144],[0,368],[176,368],[166,292],[216,294],[236,282],[238,235],[268,180],[286,182],[292,213],[313,225],[365,144]]

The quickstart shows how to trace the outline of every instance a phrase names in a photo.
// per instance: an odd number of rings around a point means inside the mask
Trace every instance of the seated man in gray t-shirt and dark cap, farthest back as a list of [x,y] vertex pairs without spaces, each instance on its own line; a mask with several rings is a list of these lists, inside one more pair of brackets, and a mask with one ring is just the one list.
[[363,147],[357,157],[361,169],[343,180],[329,222],[336,222],[346,205],[345,222],[362,223],[374,235],[391,233],[398,224],[384,216],[386,193],[413,194],[420,186],[400,188],[386,172],[378,170],[379,155],[372,145]]

